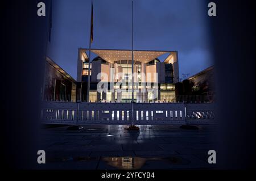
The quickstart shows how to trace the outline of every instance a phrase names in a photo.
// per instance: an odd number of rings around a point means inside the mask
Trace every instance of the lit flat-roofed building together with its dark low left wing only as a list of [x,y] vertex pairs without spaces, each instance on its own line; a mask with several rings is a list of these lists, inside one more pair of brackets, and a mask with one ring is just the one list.
[[[79,49],[78,52],[76,80],[50,57],[46,58],[44,100],[131,102],[131,50],[92,49],[94,58],[90,61],[90,68],[88,49]],[[134,102],[176,102],[175,83],[179,82],[176,51],[134,50],[134,73]],[[120,81],[122,84],[118,83]],[[100,82],[108,85],[105,91],[97,91]],[[150,91],[152,89],[155,92]]]

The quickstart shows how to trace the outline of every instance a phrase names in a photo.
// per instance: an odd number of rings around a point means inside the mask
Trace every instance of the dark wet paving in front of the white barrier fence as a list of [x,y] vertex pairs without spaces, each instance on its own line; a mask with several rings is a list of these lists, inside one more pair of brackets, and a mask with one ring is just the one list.
[[216,149],[215,128],[180,129],[177,125],[121,125],[44,128],[44,169],[212,169],[208,151]]

